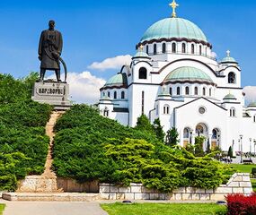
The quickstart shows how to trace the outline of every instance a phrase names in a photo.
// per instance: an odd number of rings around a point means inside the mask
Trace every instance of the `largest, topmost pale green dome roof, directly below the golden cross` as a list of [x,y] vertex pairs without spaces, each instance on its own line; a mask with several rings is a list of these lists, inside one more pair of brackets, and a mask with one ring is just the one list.
[[150,41],[152,39],[197,39],[207,42],[207,37],[197,25],[181,18],[166,18],[155,22],[141,39]]

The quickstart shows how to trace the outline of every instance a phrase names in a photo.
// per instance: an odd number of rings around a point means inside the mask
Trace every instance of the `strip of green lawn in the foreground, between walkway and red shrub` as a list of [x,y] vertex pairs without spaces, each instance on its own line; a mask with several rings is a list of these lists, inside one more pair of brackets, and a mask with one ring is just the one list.
[[101,204],[109,215],[224,215],[225,206],[208,203],[132,203]]

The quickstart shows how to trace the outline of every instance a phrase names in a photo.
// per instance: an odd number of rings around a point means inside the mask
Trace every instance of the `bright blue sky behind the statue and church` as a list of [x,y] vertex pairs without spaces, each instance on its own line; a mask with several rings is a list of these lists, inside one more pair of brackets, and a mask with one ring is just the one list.
[[[40,31],[49,19],[64,36],[63,58],[70,72],[93,62],[134,55],[146,29],[172,13],[171,0],[9,0],[0,2],[0,73],[22,77],[38,71]],[[227,49],[243,69],[243,86],[256,85],[256,1],[178,0],[177,14],[205,32],[219,59]],[[108,79],[117,70],[90,70]],[[49,72],[50,73],[50,72]]]

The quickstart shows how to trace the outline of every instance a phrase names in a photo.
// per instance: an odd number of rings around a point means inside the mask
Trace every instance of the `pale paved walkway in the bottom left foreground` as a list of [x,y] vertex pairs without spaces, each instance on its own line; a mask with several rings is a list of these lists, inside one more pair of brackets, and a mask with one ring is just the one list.
[[4,215],[108,215],[100,202],[7,202]]

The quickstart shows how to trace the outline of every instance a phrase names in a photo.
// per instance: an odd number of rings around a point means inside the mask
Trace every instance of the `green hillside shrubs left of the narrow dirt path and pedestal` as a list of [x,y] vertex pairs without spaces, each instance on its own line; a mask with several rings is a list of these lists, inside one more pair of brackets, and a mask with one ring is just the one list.
[[52,107],[31,100],[37,78],[36,73],[19,80],[0,74],[0,190],[13,191],[17,179],[44,170]]

